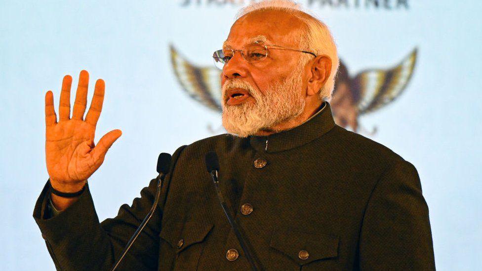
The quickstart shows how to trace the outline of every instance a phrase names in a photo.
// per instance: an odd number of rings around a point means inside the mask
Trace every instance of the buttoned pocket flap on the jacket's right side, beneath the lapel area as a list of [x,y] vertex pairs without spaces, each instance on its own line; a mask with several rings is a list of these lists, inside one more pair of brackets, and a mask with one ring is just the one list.
[[338,236],[329,234],[278,230],[273,233],[270,246],[299,265],[306,265],[321,259],[336,258],[338,241]]

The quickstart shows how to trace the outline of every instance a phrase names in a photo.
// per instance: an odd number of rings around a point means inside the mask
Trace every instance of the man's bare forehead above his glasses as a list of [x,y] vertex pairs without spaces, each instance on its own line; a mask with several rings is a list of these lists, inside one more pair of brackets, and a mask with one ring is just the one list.
[[254,11],[238,19],[223,45],[239,47],[256,40],[270,44],[296,46],[303,22],[282,10]]

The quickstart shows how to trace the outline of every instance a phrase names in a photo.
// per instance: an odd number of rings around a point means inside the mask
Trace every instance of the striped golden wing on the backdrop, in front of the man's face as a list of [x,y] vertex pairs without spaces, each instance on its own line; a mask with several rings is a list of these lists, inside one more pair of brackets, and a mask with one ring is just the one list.
[[174,74],[184,91],[202,105],[221,112],[221,71],[193,65],[173,45],[169,45],[169,49]]

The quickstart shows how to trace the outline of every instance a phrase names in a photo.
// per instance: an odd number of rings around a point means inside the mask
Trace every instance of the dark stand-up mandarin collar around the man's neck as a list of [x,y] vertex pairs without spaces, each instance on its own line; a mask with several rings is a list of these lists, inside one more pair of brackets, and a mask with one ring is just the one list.
[[249,136],[249,142],[258,152],[282,152],[312,142],[334,126],[330,104],[324,101],[320,110],[301,125],[269,136]]

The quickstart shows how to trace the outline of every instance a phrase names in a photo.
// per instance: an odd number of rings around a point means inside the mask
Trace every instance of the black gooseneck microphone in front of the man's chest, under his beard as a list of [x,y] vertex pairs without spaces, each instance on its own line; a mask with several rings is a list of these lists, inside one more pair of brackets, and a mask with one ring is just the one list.
[[244,239],[242,238],[241,232],[239,230],[238,224],[236,221],[231,217],[231,214],[228,211],[228,206],[226,205],[226,202],[224,201],[223,194],[221,194],[221,190],[219,189],[219,181],[218,181],[218,170],[219,170],[219,160],[218,160],[218,155],[216,155],[216,152],[208,152],[205,156],[205,161],[206,161],[206,169],[209,174],[211,174],[212,181],[214,183],[214,189],[216,190],[216,194],[218,196],[219,202],[221,203],[221,207],[223,207],[224,214],[226,215],[226,218],[228,218],[229,224],[231,224],[231,227],[233,228],[236,237],[238,238],[238,241],[240,242],[241,249],[244,251],[244,255],[246,255],[246,259],[249,262],[249,265],[251,266],[252,271],[257,271],[256,265],[254,264],[253,258],[251,257],[251,253],[249,252],[249,249],[244,242]]

